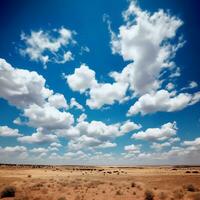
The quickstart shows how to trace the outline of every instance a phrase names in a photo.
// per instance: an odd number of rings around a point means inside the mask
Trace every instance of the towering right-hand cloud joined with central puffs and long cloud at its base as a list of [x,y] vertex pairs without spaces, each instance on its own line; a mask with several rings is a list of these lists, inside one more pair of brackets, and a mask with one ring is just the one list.
[[[100,109],[104,105],[123,103],[133,97],[139,97],[130,107],[127,115],[148,114],[158,111],[173,112],[199,101],[199,92],[195,94],[172,91],[172,82],[161,89],[168,78],[180,76],[180,69],[173,62],[176,52],[184,44],[181,37],[177,39],[177,30],[183,22],[169,13],[159,10],[155,13],[141,10],[135,1],[131,1],[123,13],[124,25],[119,33],[111,33],[113,53],[120,54],[125,61],[131,61],[121,72],[112,71],[109,76],[113,83],[99,83],[95,71],[85,64],[76,68],[74,73],[65,76],[73,91],[88,96],[86,104],[91,109]],[[163,78],[165,77],[165,78]],[[189,88],[197,87],[190,82]],[[127,96],[127,92],[132,96]],[[169,92],[171,91],[171,92]]]

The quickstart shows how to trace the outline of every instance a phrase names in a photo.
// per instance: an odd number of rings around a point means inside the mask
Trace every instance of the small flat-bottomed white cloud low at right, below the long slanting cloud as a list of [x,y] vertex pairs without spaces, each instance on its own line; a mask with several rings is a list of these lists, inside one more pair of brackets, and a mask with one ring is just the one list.
[[148,141],[163,141],[176,136],[176,122],[166,123],[161,128],[148,128],[146,131],[139,131],[132,135],[131,138]]

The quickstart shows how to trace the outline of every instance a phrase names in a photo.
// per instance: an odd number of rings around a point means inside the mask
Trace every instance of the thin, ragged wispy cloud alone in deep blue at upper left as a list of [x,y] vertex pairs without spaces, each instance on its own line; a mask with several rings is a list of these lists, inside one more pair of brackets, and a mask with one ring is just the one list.
[[32,61],[42,62],[45,67],[48,62],[65,63],[73,60],[72,52],[68,50],[69,45],[75,43],[73,36],[74,32],[64,27],[52,32],[39,30],[31,31],[30,35],[22,33],[24,48],[20,49],[20,53]]

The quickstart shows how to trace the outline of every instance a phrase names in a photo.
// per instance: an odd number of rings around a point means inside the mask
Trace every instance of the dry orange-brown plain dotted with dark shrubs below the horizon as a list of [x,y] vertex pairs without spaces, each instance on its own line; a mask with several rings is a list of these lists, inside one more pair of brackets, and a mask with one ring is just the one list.
[[5,200],[199,200],[199,190],[200,167],[0,166]]

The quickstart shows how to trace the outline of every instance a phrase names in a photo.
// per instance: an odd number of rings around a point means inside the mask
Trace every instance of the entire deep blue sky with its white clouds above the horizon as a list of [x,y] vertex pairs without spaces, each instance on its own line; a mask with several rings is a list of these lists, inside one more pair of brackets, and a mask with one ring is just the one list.
[[0,161],[199,164],[197,1],[1,1]]

